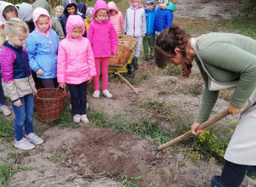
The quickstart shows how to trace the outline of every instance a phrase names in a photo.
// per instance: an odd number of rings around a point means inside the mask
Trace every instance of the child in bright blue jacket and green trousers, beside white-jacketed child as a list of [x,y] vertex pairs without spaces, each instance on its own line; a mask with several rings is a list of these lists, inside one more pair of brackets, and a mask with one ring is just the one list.
[[154,8],[154,0],[145,0],[145,4],[146,36],[143,37],[143,49],[144,61],[148,61],[149,59],[154,59],[154,18],[156,10]]

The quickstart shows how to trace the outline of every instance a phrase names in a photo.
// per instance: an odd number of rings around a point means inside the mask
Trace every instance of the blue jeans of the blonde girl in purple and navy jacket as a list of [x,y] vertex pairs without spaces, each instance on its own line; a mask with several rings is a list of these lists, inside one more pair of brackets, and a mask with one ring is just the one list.
[[27,94],[20,98],[21,105],[15,106],[12,102],[13,111],[15,112],[15,139],[20,141],[24,137],[23,127],[25,126],[25,134],[33,133],[33,94]]

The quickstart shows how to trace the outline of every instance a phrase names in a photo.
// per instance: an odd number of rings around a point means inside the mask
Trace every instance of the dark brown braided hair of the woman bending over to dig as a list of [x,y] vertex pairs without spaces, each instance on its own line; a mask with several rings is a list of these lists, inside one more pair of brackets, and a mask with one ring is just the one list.
[[176,53],[175,48],[179,48],[183,54],[183,77],[189,77],[192,64],[186,55],[185,47],[188,43],[190,35],[181,29],[177,24],[173,23],[169,29],[160,32],[154,44],[155,63],[160,68],[165,68],[170,63]]

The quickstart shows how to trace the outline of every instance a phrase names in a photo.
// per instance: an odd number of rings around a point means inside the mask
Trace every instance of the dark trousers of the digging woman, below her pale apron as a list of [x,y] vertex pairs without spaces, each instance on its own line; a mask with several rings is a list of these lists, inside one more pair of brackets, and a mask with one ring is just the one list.
[[256,170],[256,166],[240,165],[225,161],[219,183],[223,184],[225,187],[239,187],[245,177],[247,169],[253,172]]

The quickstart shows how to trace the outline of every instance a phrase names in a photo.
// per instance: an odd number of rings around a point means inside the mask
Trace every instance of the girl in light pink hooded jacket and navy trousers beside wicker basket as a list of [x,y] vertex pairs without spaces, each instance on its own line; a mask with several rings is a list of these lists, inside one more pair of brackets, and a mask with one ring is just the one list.
[[84,20],[80,15],[69,15],[67,37],[60,42],[57,59],[57,79],[61,88],[66,84],[71,94],[73,122],[89,122],[86,116],[86,87],[96,76],[95,60],[90,42],[83,37]]

